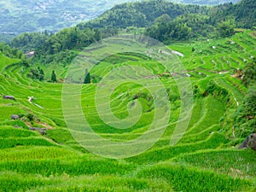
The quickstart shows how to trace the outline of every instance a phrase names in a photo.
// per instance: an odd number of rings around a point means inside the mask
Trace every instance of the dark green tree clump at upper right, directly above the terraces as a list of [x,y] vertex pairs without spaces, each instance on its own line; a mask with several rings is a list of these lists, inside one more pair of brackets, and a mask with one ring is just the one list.
[[145,34],[161,42],[170,44],[171,41],[183,41],[191,38],[230,37],[235,33],[234,20],[221,21],[214,26],[210,16],[189,14],[178,16],[174,20],[167,20],[162,15],[154,22],[154,26],[147,28]]

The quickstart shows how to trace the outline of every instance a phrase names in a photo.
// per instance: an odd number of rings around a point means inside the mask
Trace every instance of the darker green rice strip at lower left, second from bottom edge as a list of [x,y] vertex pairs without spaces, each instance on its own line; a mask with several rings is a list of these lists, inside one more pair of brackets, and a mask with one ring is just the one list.
[[124,175],[135,166],[119,163],[116,160],[101,160],[86,156],[76,158],[46,160],[15,160],[0,163],[0,171],[20,172],[23,174],[39,174],[44,177],[58,176],[67,173],[70,176],[113,174]]

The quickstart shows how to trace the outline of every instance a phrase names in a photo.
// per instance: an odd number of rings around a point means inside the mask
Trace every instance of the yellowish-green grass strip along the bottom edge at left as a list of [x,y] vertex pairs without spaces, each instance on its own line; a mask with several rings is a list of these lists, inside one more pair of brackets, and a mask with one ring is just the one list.
[[[115,177],[111,175],[93,175],[70,177],[64,173],[57,177],[32,177],[15,172],[1,172],[2,191],[16,189],[32,191],[163,191],[171,192],[172,186],[163,179],[145,179],[137,177]],[[16,183],[16,185],[15,185]]]

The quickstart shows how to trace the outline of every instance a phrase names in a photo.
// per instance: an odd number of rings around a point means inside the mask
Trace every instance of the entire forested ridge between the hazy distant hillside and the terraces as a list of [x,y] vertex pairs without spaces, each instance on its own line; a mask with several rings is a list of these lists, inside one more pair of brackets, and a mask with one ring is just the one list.
[[[35,50],[38,55],[54,55],[67,49],[80,49],[93,42],[143,27],[142,32],[166,44],[172,41],[229,37],[235,27],[255,26],[255,0],[242,0],[216,7],[183,5],[163,0],[124,3],[105,14],[66,28],[57,33],[24,33],[12,41],[12,46],[24,51]],[[133,29],[132,29],[133,28]],[[137,29],[136,29],[137,30]],[[51,59],[47,62],[52,61]]]

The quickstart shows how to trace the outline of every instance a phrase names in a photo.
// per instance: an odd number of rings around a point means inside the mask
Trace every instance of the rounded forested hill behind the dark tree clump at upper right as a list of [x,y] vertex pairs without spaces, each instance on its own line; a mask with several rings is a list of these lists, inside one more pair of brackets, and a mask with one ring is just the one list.
[[[237,26],[251,28],[256,25],[256,1],[241,0],[239,3],[224,3],[216,7],[199,5],[183,5],[165,0],[148,2],[124,3],[113,7],[96,20],[91,20],[79,27],[126,28],[127,26],[151,26],[161,15],[169,15],[171,19],[180,15],[207,15],[207,23],[215,24],[219,20],[236,20]],[[207,21],[207,20],[206,20]]]

